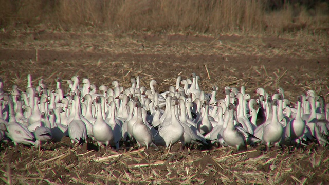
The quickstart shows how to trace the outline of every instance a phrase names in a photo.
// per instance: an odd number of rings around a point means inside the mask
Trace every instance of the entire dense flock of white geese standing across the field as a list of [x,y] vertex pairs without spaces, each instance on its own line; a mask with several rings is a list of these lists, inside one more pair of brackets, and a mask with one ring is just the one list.
[[[141,86],[138,76],[129,88],[113,81],[113,88],[101,85],[99,91],[87,78],[80,84],[74,76],[66,80],[66,93],[59,78],[51,90],[42,79],[33,87],[28,75],[26,91],[14,85],[9,93],[0,80],[0,141],[39,149],[42,143],[63,137],[76,144],[89,141],[116,149],[124,142],[155,150],[176,142],[182,147],[218,145],[238,150],[257,143],[267,148],[329,144],[329,104],[313,90],[299,96],[293,108],[282,88],[271,96],[257,88],[258,99],[246,94],[244,86],[240,91],[214,86],[207,94],[199,88],[199,77],[195,73],[192,77],[178,76],[176,87],[163,93],[155,91],[155,80],[149,89]],[[216,100],[217,91],[225,98]]]

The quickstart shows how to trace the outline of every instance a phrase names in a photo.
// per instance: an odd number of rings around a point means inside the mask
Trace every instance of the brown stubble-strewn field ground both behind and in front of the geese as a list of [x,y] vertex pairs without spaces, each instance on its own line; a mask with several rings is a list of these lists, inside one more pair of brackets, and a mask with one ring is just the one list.
[[[285,90],[295,102],[305,90],[329,95],[329,47],[326,38],[299,35],[254,37],[156,33],[71,33],[25,30],[0,33],[0,77],[5,89],[25,90],[27,74],[33,84],[43,78],[53,88],[55,79],[88,77],[95,85],[112,87],[113,80],[130,86],[139,75],[141,85],[151,79],[158,90],[174,85],[178,75],[196,72],[200,88],[213,85],[246,86],[246,93],[264,87],[269,93]],[[208,73],[207,73],[207,70]],[[66,84],[65,84],[66,85]],[[64,88],[67,86],[64,85]],[[217,99],[224,98],[221,92]],[[0,145],[0,184],[328,184],[327,147],[264,151],[229,148],[180,149],[156,152],[122,145],[98,151],[93,144],[73,147],[69,138],[48,143],[39,152],[12,143]],[[107,157],[107,158],[106,158]],[[106,159],[106,160],[105,160]],[[8,175],[10,174],[10,175]]]

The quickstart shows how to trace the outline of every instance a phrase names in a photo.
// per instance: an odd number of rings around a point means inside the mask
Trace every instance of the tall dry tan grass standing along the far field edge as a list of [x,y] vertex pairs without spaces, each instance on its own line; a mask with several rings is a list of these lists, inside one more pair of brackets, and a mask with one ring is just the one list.
[[[197,33],[269,33],[303,31],[327,34],[328,4],[284,4],[273,1],[7,1],[1,0],[0,25],[46,25],[59,30],[110,30]],[[34,11],[34,10],[39,11]]]

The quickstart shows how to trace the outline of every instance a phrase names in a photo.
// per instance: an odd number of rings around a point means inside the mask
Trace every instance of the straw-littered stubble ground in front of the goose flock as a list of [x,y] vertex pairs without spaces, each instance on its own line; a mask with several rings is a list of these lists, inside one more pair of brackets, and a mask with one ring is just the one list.
[[314,184],[329,180],[327,149],[315,145],[292,153],[265,152],[261,147],[247,152],[181,151],[179,145],[170,153],[162,147],[159,152],[131,148],[100,153],[85,152],[67,142],[47,144],[41,152],[20,147],[19,154],[5,146],[0,180],[12,180],[12,184]]

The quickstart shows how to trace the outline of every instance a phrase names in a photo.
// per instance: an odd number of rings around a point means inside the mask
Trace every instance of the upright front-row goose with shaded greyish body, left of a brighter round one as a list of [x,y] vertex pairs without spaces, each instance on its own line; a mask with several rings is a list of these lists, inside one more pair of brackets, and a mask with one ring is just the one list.
[[72,100],[72,112],[74,115],[72,121],[68,124],[68,136],[71,139],[71,142],[81,143],[86,141],[87,137],[87,128],[85,123],[81,120],[79,109],[80,109],[80,101],[77,95],[74,96],[74,100]]

